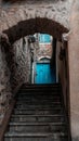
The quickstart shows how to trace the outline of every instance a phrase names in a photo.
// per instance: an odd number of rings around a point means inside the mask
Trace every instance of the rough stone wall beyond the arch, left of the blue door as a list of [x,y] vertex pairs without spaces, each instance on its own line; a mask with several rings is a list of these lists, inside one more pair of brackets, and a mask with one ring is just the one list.
[[21,38],[13,46],[14,75],[12,78],[13,90],[24,82],[30,82],[30,49],[27,38]]

